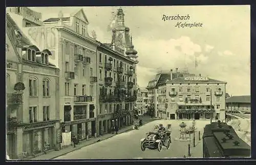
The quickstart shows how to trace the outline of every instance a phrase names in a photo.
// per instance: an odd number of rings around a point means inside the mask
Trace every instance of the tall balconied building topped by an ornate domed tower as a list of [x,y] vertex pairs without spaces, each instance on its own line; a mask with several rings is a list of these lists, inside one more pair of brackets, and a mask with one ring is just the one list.
[[100,43],[97,49],[99,134],[110,131],[114,125],[119,128],[131,125],[136,101],[137,51],[130,29],[124,25],[121,8],[117,11],[116,22],[111,44]]

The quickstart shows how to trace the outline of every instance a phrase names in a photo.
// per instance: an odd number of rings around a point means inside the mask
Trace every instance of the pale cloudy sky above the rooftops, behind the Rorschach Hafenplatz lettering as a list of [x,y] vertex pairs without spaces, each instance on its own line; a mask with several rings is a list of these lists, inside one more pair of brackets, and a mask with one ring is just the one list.
[[[111,42],[112,12],[119,7],[30,7],[42,20],[64,17],[83,8],[97,40]],[[138,51],[137,81],[146,87],[157,70],[183,69],[226,81],[226,92],[250,95],[250,6],[135,6],[122,7],[125,26],[130,28]],[[166,16],[187,16],[188,20],[163,20]],[[165,17],[166,18],[166,17]],[[177,23],[202,26],[176,26]],[[92,35],[91,35],[92,36]],[[195,67],[195,59],[198,66]]]

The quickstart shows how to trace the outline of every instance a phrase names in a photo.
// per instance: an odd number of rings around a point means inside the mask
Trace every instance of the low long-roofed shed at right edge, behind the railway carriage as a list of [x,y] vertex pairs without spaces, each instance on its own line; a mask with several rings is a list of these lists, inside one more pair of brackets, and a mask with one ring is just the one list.
[[226,112],[251,113],[251,96],[231,96],[226,98]]

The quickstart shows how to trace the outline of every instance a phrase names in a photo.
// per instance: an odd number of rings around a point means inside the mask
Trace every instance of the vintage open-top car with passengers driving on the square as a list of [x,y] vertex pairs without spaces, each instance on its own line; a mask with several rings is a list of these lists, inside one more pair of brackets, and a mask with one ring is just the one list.
[[141,139],[140,148],[142,151],[145,151],[146,148],[148,149],[158,149],[158,151],[162,151],[162,146],[165,146],[167,149],[170,148],[170,143],[172,143],[170,139],[170,124],[165,128],[164,131],[156,128],[152,132],[147,132],[145,138]]

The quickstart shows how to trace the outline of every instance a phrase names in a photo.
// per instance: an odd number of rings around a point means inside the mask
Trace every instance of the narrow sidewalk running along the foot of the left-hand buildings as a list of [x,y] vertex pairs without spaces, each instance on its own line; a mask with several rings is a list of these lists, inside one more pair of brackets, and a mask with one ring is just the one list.
[[[146,124],[146,123],[152,122],[154,120],[158,120],[156,118],[152,119],[151,117],[148,117],[148,116],[141,116],[141,117],[139,117],[139,119],[142,119],[143,125]],[[134,119],[134,122],[137,122],[137,120]],[[126,127],[123,127],[121,129],[119,129],[118,134],[123,133],[123,132],[127,132],[127,131],[131,131],[131,130],[132,130],[132,125],[131,126],[126,126]],[[92,145],[94,143],[97,143],[99,141],[109,139],[110,137],[113,137],[115,135],[117,135],[116,132],[114,132],[114,134],[111,134],[111,133],[103,134],[103,135],[101,135],[99,137],[96,137],[96,138],[92,137],[89,140],[80,141],[80,144],[76,145],[76,148],[74,148],[74,145],[72,143],[71,146],[62,148],[59,151],[52,151],[52,152],[49,152],[47,154],[40,155],[40,156],[37,156],[37,157],[34,157],[34,158],[24,158],[24,160],[54,159],[54,158],[59,157],[61,155],[65,155],[65,154],[70,153],[72,151],[81,149],[82,147],[86,147],[86,146]]]

